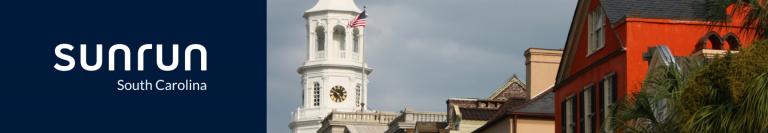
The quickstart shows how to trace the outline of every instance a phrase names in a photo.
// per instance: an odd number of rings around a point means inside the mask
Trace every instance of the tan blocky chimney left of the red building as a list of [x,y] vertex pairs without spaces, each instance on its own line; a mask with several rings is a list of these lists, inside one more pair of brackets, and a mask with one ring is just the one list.
[[555,85],[563,50],[528,48],[525,50],[525,82],[531,98]]

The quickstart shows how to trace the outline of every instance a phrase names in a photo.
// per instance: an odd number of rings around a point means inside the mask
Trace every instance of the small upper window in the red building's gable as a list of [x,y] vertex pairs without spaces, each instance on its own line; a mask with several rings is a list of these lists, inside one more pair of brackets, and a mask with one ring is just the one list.
[[589,40],[587,56],[597,52],[605,46],[605,14],[602,7],[597,7],[589,13]]

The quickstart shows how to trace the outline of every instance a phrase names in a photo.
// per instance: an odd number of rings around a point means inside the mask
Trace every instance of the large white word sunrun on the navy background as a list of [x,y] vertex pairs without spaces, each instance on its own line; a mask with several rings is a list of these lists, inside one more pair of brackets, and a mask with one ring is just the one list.
[[[89,65],[86,61],[87,59],[87,45],[86,44],[80,44],[80,66],[86,71],[97,71],[102,66],[102,45],[96,44],[96,63],[93,65]],[[156,44],[155,48],[157,49],[155,53],[156,57],[156,64],[157,68],[163,71],[173,71],[176,70],[176,67],[179,65],[179,45],[173,44],[173,59],[170,65],[166,65],[163,63],[163,45],[162,44]],[[59,71],[70,71],[75,68],[75,58],[73,58],[70,55],[62,53],[62,50],[69,50],[73,51],[74,46],[67,43],[62,43],[56,46],[54,49],[54,54],[56,54],[56,57],[58,57],[61,60],[64,60],[67,62],[67,65],[61,65],[59,63],[56,63],[53,65],[53,68]],[[147,50],[151,50],[152,44],[144,44],[141,45],[136,53],[138,56],[138,71],[144,71],[144,52]],[[125,71],[131,71],[131,49],[124,45],[124,44],[115,44],[109,47],[109,71],[115,71],[115,52],[116,51],[122,51],[124,53],[125,58]],[[200,53],[200,71],[207,71],[208,70],[208,53],[205,50],[205,46],[200,44],[190,44],[184,49],[184,71],[191,71],[192,70],[192,62],[191,62],[191,54],[192,51],[197,50]]]

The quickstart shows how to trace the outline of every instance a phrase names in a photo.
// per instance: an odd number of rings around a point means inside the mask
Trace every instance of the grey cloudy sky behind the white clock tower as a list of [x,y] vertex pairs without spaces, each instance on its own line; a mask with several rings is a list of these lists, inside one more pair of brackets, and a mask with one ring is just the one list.
[[[451,97],[484,98],[517,74],[523,52],[562,48],[575,0],[356,0],[368,7],[369,106],[445,111]],[[267,131],[289,132],[305,60],[303,12],[316,0],[267,1]]]

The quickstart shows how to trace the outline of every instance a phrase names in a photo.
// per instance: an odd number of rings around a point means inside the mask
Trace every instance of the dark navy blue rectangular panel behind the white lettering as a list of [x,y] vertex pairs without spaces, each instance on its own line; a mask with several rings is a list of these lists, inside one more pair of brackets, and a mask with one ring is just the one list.
[[[264,132],[265,15],[266,1],[2,2],[0,132]],[[74,62],[55,54],[64,43],[73,48],[62,54]],[[129,71],[122,51],[108,68],[116,44],[129,49]],[[140,53],[144,44],[152,48]],[[178,45],[174,70],[159,69],[158,44],[168,65]],[[185,56],[192,44],[205,47],[207,70],[201,51]],[[101,54],[98,70],[81,65],[81,45],[86,64]],[[69,63],[70,71],[54,68]],[[154,90],[121,90],[128,82]]]

